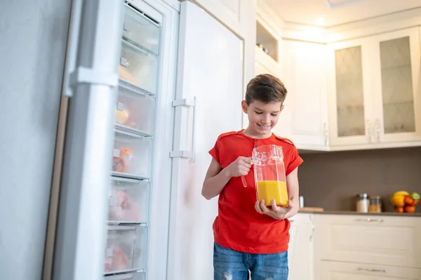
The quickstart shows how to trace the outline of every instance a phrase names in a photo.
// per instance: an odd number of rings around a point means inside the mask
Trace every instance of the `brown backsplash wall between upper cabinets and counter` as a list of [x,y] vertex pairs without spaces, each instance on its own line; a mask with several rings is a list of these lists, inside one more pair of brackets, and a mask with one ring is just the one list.
[[394,211],[389,202],[394,192],[421,192],[421,147],[301,156],[298,173],[305,206],[355,211],[356,194],[367,192],[382,196],[384,211]]

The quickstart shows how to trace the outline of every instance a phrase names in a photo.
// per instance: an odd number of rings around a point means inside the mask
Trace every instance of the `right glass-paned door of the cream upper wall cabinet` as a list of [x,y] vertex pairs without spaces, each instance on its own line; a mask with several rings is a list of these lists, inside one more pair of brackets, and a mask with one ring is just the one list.
[[374,36],[375,140],[421,140],[420,34],[418,27]]

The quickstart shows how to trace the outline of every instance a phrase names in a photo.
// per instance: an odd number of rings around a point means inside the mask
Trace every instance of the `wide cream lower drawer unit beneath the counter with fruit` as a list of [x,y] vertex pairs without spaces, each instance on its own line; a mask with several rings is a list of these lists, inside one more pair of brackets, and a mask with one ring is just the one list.
[[315,279],[421,279],[421,218],[314,215]]

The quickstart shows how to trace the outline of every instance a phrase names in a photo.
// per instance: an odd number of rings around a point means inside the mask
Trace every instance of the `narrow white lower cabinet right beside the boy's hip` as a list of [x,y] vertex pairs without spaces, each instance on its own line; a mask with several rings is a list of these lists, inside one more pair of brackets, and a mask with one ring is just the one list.
[[298,213],[290,218],[288,244],[289,280],[313,279],[313,214]]

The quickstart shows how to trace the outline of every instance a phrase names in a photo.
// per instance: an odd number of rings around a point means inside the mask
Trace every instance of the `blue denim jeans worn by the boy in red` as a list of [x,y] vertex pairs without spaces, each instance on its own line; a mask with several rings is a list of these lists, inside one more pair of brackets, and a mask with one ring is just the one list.
[[214,280],[248,280],[248,271],[252,280],[288,280],[288,251],[250,254],[213,245]]

